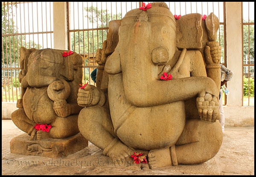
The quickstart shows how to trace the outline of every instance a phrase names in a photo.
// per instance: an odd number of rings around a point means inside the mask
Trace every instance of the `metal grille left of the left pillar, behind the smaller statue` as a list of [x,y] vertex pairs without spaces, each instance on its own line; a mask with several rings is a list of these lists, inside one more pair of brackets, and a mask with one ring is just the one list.
[[2,2],[2,101],[20,98],[20,47],[53,48],[52,2]]

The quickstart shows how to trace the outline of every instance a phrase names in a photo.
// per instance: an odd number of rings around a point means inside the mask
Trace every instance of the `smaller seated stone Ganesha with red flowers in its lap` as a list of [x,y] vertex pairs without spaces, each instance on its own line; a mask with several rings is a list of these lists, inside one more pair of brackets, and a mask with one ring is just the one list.
[[20,48],[21,99],[12,112],[14,124],[29,140],[67,138],[79,133],[81,107],[76,99],[82,80],[82,59],[75,52]]

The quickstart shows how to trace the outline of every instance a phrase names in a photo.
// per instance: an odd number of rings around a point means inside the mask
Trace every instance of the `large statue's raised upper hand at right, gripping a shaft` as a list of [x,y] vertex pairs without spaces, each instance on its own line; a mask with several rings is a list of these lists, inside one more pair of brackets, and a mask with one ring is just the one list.
[[207,42],[204,55],[207,65],[219,64],[221,61],[221,46],[216,41]]

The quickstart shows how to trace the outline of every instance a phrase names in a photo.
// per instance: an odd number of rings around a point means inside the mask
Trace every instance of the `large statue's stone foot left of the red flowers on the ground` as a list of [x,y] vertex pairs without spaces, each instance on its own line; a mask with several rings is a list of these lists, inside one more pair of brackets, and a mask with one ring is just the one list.
[[104,149],[103,154],[110,157],[113,161],[125,161],[131,160],[134,150],[122,143],[118,138],[115,138]]

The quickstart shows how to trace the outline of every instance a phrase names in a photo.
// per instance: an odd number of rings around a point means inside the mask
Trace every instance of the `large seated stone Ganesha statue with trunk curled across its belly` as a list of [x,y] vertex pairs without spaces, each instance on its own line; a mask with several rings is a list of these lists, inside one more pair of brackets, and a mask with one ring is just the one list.
[[[151,169],[206,162],[222,142],[218,22],[213,14],[205,23],[200,14],[178,21],[165,3],[151,4],[125,15],[108,55],[107,37],[101,59],[108,87],[102,80],[101,87],[79,89],[80,132],[112,160],[143,152]],[[185,29],[186,20],[193,28]]]

